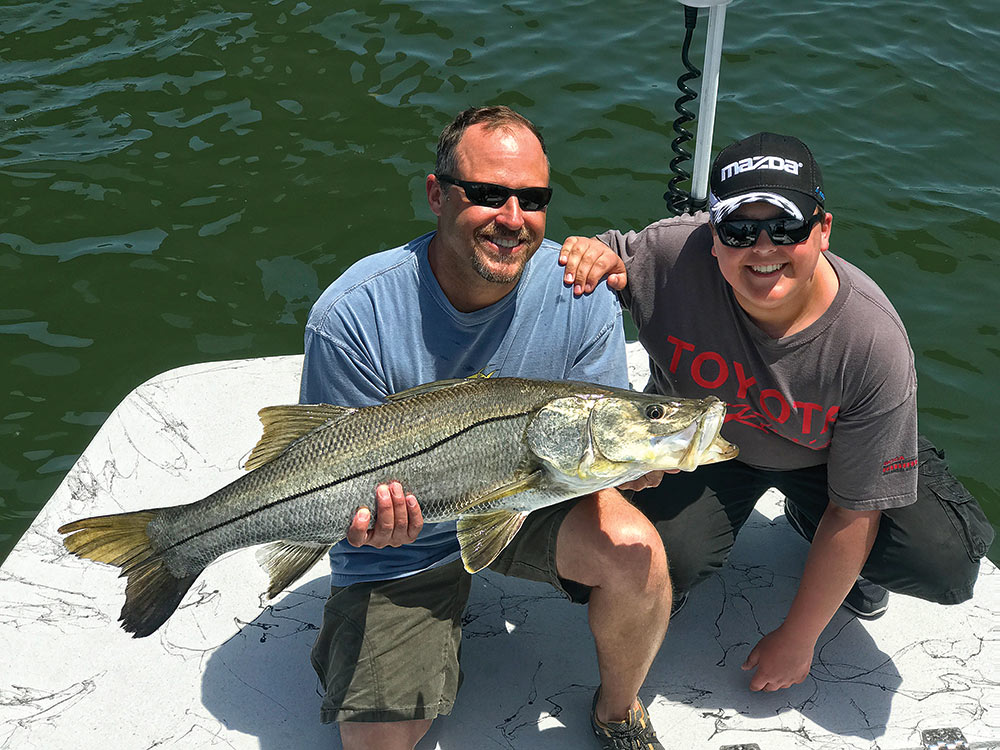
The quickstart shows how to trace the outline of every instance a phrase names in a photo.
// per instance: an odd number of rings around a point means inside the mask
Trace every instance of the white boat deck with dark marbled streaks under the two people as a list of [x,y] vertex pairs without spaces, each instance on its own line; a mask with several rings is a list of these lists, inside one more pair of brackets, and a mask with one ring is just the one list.
[[[632,349],[638,367],[643,357]],[[340,747],[319,723],[309,649],[325,563],[273,602],[252,550],[211,565],[160,630],[117,624],[117,569],[67,553],[56,528],[191,502],[241,473],[261,406],[293,403],[301,357],[195,365],[153,378],[114,411],[0,569],[0,747]],[[634,386],[644,381],[637,374]],[[780,622],[806,545],[758,503],[731,564],[670,625],[641,693],[667,748],[902,750],[957,728],[1000,747],[1000,573],[940,607],[893,595],[863,622],[841,610],[804,684],[751,693],[740,664]],[[474,579],[465,683],[420,748],[589,748],[597,670],[586,610],[544,585]]]

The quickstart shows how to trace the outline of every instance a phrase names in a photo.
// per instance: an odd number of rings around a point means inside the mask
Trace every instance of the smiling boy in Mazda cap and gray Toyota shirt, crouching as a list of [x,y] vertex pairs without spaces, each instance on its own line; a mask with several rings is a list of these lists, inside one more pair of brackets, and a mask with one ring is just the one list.
[[993,530],[917,435],[906,331],[878,286],[829,252],[833,217],[805,144],[739,141],[715,160],[711,187],[708,214],[571,237],[560,262],[578,294],[606,275],[620,291],[650,355],[648,389],[729,405],[722,434],[736,461],[633,487],[676,599],[725,563],[769,487],[811,542],[784,622],[743,665],[751,690],[777,690],[805,679],[841,604],[874,617],[885,589],[970,598]]

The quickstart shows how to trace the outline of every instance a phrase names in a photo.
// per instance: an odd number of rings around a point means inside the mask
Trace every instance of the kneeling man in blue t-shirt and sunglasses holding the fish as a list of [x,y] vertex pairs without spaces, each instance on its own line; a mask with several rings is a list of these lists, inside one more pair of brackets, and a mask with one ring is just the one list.
[[[313,307],[300,401],[350,406],[443,378],[519,376],[627,387],[610,290],[574,300],[544,240],[549,165],[506,107],[466,110],[441,134],[427,200],[437,230],[359,261]],[[424,525],[398,482],[375,489],[331,552],[313,648],[324,722],[345,750],[412,748],[451,711],[470,576],[454,523]],[[652,524],[616,490],[535,511],[490,568],[588,602],[605,748],[661,748],[637,692],[663,639],[671,587]],[[631,744],[630,744],[631,743]]]

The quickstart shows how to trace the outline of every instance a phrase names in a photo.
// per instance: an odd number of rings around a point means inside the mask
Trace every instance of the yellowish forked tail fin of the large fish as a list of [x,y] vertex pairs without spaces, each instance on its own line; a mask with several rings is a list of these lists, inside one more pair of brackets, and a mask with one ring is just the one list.
[[179,577],[170,572],[162,553],[147,533],[156,510],[95,516],[59,527],[63,544],[77,557],[116,565],[127,579],[122,628],[133,638],[153,633],[174,613],[200,575]]

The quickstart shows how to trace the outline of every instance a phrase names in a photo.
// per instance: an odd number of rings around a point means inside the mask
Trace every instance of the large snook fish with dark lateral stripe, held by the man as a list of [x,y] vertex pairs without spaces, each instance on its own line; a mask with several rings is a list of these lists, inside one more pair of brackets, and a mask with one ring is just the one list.
[[469,572],[489,565],[532,510],[660,469],[693,470],[737,449],[725,405],[590,383],[439,381],[362,409],[271,406],[250,471],[187,505],[73,521],[75,555],[128,579],[122,627],[162,625],[220,555],[274,542],[258,559],[275,596],[346,536],[378,483],[399,480],[427,521],[457,519]]

